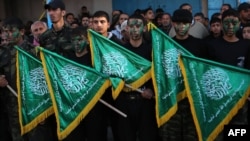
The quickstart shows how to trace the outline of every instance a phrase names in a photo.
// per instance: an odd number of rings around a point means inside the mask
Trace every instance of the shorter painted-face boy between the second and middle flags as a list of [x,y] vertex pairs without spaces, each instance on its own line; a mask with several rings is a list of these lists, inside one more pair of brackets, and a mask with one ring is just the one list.
[[[71,36],[71,45],[74,49],[73,56],[70,56],[69,59],[73,60],[79,64],[92,67],[91,62],[91,53],[89,50],[89,43],[87,40],[87,28],[81,26],[72,29],[70,32]],[[97,106],[98,105],[98,106]],[[99,129],[96,124],[96,118],[98,118],[98,107],[100,103],[97,103],[88,115],[81,120],[79,125],[64,139],[64,141],[98,141],[102,140],[102,134],[100,135]],[[99,125],[101,126],[101,125]],[[101,132],[102,133],[102,132]]]

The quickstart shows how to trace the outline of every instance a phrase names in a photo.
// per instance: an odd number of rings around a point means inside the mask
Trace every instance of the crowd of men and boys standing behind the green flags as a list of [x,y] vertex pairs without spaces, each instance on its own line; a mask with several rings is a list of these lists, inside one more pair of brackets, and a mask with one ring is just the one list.
[[[194,56],[250,69],[250,4],[241,3],[237,9],[223,4],[221,11],[206,18],[202,12],[193,16],[192,6],[181,4],[173,14],[162,9],[136,9],[129,15],[114,10],[109,17],[105,11],[91,14],[86,6],[75,16],[66,11],[61,0],[46,4],[52,22],[34,21],[25,26],[21,19],[8,17],[2,21],[0,44],[0,140],[1,141],[55,141],[56,119],[52,115],[29,133],[21,136],[17,97],[7,86],[16,86],[15,45],[39,59],[37,46],[58,53],[77,63],[93,67],[87,30],[92,29],[109,40],[151,61],[152,40],[147,23],[154,23],[166,35]],[[45,18],[46,19],[46,18]],[[116,100],[111,88],[102,99],[127,114],[124,118],[105,105],[97,103],[88,115],[64,140],[108,141],[111,127],[114,141],[197,141],[197,132],[186,99],[178,103],[176,114],[160,128],[155,116],[152,80],[138,91],[121,92]],[[247,125],[248,102],[229,124]],[[215,139],[222,141],[221,134]]]

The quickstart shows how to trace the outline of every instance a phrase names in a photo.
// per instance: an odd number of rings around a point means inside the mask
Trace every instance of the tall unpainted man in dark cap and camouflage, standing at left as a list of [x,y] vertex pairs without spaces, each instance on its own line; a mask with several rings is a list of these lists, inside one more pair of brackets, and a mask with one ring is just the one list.
[[44,8],[48,11],[52,22],[52,28],[44,32],[39,37],[40,46],[50,51],[56,52],[64,57],[73,54],[70,46],[71,28],[66,25],[64,16],[66,14],[65,5],[61,0],[53,0],[46,4]]

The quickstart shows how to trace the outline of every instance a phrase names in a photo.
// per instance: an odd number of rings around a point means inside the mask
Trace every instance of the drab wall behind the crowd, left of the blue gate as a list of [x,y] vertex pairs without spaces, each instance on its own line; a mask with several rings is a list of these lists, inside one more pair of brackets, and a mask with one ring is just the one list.
[[[74,13],[76,16],[85,5],[91,14],[97,10],[112,12],[112,0],[63,0],[66,11]],[[7,2],[7,5],[6,5]],[[7,8],[9,7],[9,8]],[[17,16],[27,22],[28,20],[38,20],[43,14],[43,0],[0,0],[0,19],[6,16]]]

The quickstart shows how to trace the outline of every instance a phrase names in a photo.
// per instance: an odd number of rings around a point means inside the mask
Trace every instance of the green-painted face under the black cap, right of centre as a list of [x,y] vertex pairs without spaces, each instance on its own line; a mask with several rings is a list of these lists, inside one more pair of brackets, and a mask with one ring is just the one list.
[[190,29],[190,23],[174,22],[174,29],[179,36],[185,36]]

